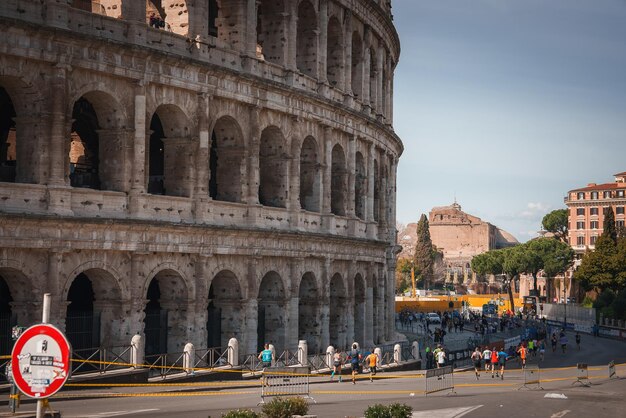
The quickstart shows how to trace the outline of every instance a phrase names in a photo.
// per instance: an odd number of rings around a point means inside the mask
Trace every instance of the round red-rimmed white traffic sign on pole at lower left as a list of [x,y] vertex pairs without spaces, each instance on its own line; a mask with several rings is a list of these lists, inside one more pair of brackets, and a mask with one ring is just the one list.
[[15,342],[11,368],[13,381],[24,395],[52,396],[70,375],[70,343],[52,325],[33,325]]

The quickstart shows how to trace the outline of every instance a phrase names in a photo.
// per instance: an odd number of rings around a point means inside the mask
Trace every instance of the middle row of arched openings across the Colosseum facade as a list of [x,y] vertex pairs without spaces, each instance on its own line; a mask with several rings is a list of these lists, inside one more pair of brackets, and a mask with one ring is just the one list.
[[[22,150],[28,152],[22,143],[30,139],[20,135],[20,127],[15,123],[20,115],[13,103],[0,80],[0,181],[29,182],[28,177],[16,175],[24,161]],[[131,174],[127,161],[132,155],[129,148],[132,150],[133,136],[126,129],[126,113],[114,97],[103,91],[85,93],[74,102],[67,140],[69,151],[65,156],[70,186],[128,191]],[[247,203],[244,189],[245,176],[249,175],[247,159],[253,156],[249,154],[250,140],[244,136],[236,116],[223,115],[214,122],[206,161],[200,163],[196,160],[198,143],[193,139],[191,122],[180,108],[172,104],[158,106],[149,117],[148,126],[145,159],[148,193],[191,197],[194,179],[201,169],[196,165],[200,164],[207,169],[204,187],[209,197]],[[265,127],[259,142],[257,195],[261,205],[286,208],[291,198],[290,178],[298,177],[299,192],[294,198],[301,209],[321,212],[323,190],[329,188],[331,213],[347,216],[353,208],[356,217],[366,219],[367,199],[371,195],[371,218],[379,220],[381,189],[388,171],[386,165],[379,164],[378,155],[370,165],[371,156],[359,150],[350,157],[345,142],[337,139],[332,145],[330,161],[325,161],[324,144],[319,138],[308,135],[302,142],[288,139],[276,125]],[[350,163],[350,158],[354,158],[354,163]],[[324,169],[330,171],[328,185],[323,184]],[[349,181],[351,175],[353,186]],[[351,196],[353,201],[348,201]]]

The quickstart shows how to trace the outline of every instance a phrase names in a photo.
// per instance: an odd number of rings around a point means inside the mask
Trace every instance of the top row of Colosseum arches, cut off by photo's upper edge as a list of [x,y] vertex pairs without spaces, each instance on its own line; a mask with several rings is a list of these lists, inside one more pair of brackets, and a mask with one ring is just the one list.
[[[121,3],[123,0],[98,0],[83,5],[75,1],[74,6],[121,17]],[[148,0],[144,13],[146,22],[156,15],[174,33],[191,38],[214,37],[232,48],[245,44],[242,36],[249,33],[257,58],[284,67],[293,65],[302,74],[327,81],[378,113],[387,114],[392,63],[386,47],[370,25],[338,4],[328,3],[256,0],[256,27],[252,31],[243,30],[250,26],[244,18],[250,7],[246,2],[208,0],[192,4],[183,0]],[[196,14],[204,16],[201,23]],[[236,27],[242,30],[232,30]],[[291,47],[290,42],[294,44]]]

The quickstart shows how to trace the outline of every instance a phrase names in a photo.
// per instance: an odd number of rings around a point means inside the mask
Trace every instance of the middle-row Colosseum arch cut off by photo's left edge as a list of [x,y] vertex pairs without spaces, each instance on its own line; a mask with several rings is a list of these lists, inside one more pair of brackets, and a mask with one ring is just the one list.
[[37,183],[39,178],[38,129],[42,120],[23,96],[40,100],[34,87],[20,78],[0,75],[0,182]]

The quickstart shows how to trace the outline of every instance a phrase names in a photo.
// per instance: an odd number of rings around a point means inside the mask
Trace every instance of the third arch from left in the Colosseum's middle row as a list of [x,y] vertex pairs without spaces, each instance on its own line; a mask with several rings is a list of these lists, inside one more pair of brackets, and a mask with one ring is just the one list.
[[148,193],[167,196],[191,195],[193,143],[191,122],[185,112],[173,104],[162,104],[150,119],[147,144]]

